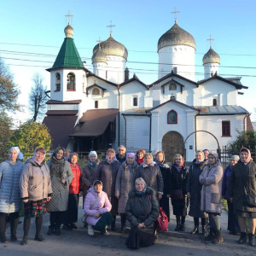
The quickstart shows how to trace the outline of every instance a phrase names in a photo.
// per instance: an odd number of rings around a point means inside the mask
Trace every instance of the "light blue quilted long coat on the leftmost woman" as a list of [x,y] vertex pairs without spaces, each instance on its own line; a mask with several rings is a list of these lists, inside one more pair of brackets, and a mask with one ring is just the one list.
[[20,160],[15,165],[5,160],[0,164],[0,212],[19,212],[20,198],[20,174],[24,164]]

